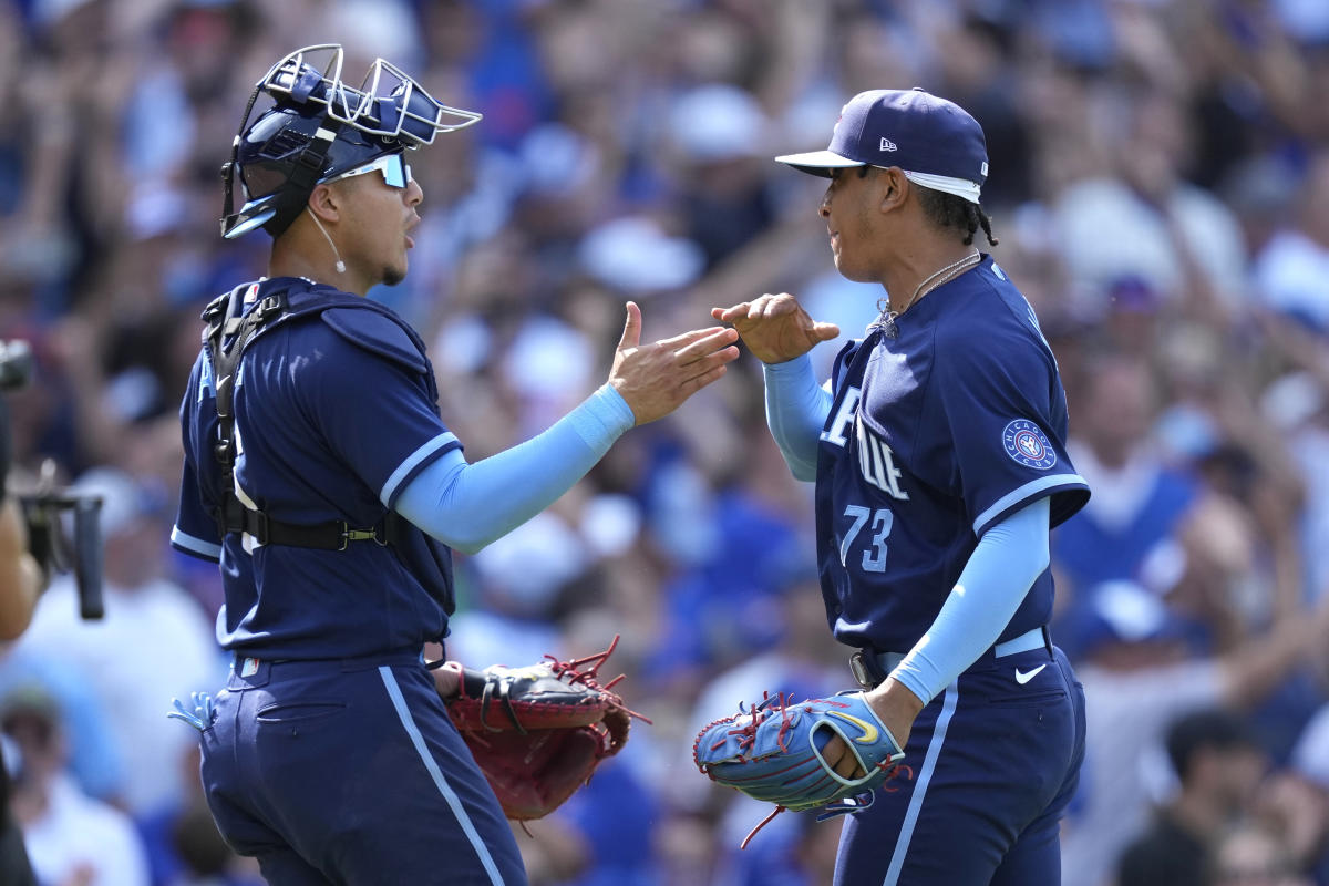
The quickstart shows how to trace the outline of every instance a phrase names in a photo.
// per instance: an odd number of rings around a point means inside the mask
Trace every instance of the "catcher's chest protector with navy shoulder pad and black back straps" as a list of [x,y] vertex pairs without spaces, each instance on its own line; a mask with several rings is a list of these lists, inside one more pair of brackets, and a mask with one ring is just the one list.
[[[310,317],[336,310],[336,321],[330,317],[324,319],[339,333],[352,337],[361,347],[420,369],[435,402],[437,402],[439,393],[433,373],[429,371],[429,363],[424,357],[424,341],[420,340],[415,329],[403,323],[388,308],[376,302],[335,290],[311,291],[308,284],[300,282],[291,287],[274,288],[246,311],[246,300],[256,296],[259,286],[258,283],[238,286],[214,299],[202,313],[202,320],[207,324],[203,329],[203,349],[211,364],[217,393],[217,442],[213,444],[213,456],[222,469],[222,497],[221,505],[213,509],[213,519],[217,521],[218,535],[249,533],[260,545],[290,545],[332,551],[343,551],[352,542],[400,543],[409,523],[392,510],[388,510],[376,525],[368,527],[351,526],[344,519],[312,525],[288,523],[274,519],[266,511],[249,507],[235,495],[235,458],[238,454],[235,448],[235,379],[245,349],[259,335],[298,317]],[[415,345],[415,353],[407,353],[389,341],[355,337],[354,327],[344,321],[343,312],[347,310],[368,311],[388,320],[391,327],[395,327],[392,337],[400,337],[396,336],[397,329],[404,332]],[[372,317],[372,320],[373,325],[381,328],[384,320],[379,317]]]

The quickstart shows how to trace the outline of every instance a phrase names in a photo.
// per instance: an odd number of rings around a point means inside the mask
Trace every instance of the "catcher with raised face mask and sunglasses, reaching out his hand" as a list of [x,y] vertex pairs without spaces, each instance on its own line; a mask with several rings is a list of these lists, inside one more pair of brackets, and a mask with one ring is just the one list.
[[643,343],[629,303],[606,383],[472,462],[424,340],[365,296],[405,278],[424,236],[412,154],[480,114],[381,58],[344,80],[346,56],[307,46],[263,74],[222,170],[222,236],[272,242],[267,274],[205,311],[181,404],[171,545],[218,563],[234,656],[199,717],[201,776],[270,882],[514,886],[512,828],[420,655],[448,635],[452,551],[530,519],[719,379],[738,335]]

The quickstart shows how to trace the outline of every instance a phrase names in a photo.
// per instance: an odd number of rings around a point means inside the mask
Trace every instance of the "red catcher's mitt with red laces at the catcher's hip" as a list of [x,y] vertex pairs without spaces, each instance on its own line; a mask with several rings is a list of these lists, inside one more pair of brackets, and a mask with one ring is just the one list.
[[618,646],[598,655],[545,662],[524,668],[462,668],[457,695],[445,699],[448,713],[476,762],[514,821],[542,818],[578,788],[595,768],[627,743],[630,711],[595,673]]

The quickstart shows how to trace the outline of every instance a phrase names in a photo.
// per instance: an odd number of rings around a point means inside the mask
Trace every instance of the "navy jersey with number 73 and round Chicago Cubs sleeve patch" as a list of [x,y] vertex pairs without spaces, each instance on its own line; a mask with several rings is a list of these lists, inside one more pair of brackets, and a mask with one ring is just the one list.
[[[987,256],[836,357],[817,453],[821,592],[843,643],[906,652],[982,534],[1051,495],[1088,501],[1066,456],[1066,395],[1029,302]],[[1051,573],[1002,640],[1046,624]]]

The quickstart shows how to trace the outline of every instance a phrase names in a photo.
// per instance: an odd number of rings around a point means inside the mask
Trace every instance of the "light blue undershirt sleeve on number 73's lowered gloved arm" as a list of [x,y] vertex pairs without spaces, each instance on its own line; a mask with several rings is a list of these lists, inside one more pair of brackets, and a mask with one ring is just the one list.
[[892,671],[924,704],[997,642],[1047,569],[1049,510],[1039,498],[983,533],[937,619]]

